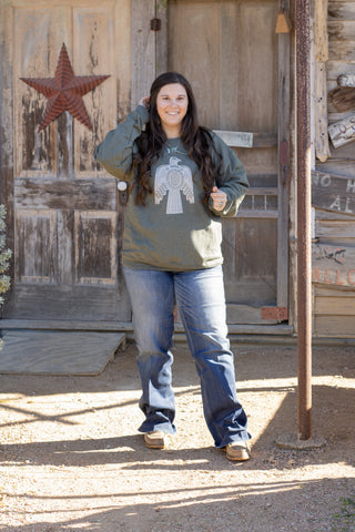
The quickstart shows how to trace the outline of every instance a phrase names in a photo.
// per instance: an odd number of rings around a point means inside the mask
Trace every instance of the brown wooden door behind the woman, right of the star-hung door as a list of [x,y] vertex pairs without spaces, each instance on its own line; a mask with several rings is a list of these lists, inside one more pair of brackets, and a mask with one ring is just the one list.
[[168,2],[168,68],[191,81],[200,122],[240,146],[251,183],[224,221],[230,324],[287,319],[290,44],[277,14],[277,0]]

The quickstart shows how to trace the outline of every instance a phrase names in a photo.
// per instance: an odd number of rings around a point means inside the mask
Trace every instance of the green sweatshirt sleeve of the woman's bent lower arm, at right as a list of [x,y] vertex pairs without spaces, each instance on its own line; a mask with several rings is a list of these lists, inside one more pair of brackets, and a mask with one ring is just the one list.
[[[235,216],[250,186],[245,168],[234,151],[227,146],[222,139],[213,134],[213,140],[216,151],[222,157],[220,175],[216,177],[216,186],[225,192],[227,200],[224,209],[216,211],[213,208],[213,201],[210,197],[209,208],[216,216]],[[219,166],[220,161],[217,161],[217,157],[215,163],[216,166]]]

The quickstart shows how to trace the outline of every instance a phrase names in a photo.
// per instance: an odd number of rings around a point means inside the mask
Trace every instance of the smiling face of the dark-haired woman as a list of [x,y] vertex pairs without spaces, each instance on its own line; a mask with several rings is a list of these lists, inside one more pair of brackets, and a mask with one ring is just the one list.
[[162,86],[156,96],[156,111],[168,139],[180,136],[182,121],[187,112],[189,98],[180,83]]

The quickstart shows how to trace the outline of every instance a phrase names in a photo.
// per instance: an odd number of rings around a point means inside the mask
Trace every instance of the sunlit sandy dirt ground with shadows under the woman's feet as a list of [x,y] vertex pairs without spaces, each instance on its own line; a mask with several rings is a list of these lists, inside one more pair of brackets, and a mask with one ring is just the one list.
[[355,348],[313,349],[313,436],[297,427],[295,347],[233,345],[253,457],[213,447],[199,380],[174,349],[178,434],[148,450],[128,345],[97,377],[0,376],[0,530],[7,532],[355,531]]

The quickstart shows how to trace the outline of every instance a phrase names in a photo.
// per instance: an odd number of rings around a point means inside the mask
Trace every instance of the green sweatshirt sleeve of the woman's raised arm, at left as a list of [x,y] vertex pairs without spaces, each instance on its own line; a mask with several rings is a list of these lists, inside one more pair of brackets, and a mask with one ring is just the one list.
[[128,181],[132,167],[134,141],[140,136],[148,121],[148,110],[143,105],[139,105],[95,147],[95,161],[110,174]]

